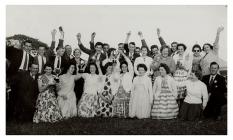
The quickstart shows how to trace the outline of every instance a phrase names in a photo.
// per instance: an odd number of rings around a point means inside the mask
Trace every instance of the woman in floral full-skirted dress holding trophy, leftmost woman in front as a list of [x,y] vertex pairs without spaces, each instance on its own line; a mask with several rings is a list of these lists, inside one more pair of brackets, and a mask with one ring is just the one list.
[[38,78],[39,95],[36,101],[36,111],[33,122],[57,122],[62,119],[61,110],[55,96],[55,81],[52,75],[52,65],[45,64],[45,73]]

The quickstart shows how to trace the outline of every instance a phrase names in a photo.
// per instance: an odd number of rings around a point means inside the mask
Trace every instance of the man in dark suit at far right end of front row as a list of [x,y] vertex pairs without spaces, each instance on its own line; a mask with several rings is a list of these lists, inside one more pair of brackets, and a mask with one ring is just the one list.
[[218,74],[219,65],[216,62],[210,64],[210,75],[202,78],[207,85],[209,101],[204,110],[204,116],[207,118],[221,119],[221,107],[226,104],[225,93],[227,92],[225,78]]

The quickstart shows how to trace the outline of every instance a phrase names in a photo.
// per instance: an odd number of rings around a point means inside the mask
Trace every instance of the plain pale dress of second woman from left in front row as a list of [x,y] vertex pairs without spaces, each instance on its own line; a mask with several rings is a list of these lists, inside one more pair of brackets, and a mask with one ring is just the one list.
[[[58,104],[64,118],[71,118],[77,116],[76,96],[74,92],[75,75],[66,77],[61,75],[60,90],[58,91]],[[64,99],[62,96],[66,96]]]

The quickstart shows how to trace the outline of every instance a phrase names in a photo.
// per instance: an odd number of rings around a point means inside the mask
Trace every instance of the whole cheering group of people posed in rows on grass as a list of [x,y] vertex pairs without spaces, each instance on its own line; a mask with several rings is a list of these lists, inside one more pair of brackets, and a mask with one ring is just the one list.
[[[8,117],[35,123],[76,116],[199,120],[204,114],[221,119],[227,92],[226,80],[218,74],[222,31],[223,27],[217,29],[213,45],[195,44],[192,52],[183,43],[172,42],[169,47],[160,29],[161,47],[150,49],[142,32],[138,32],[141,47],[128,43],[128,32],[117,49],[94,43],[96,33],[91,34],[88,49],[78,33],[78,47],[72,51],[63,45],[61,28],[57,47],[54,29],[51,46],[39,46],[35,56],[30,55],[29,40],[7,43]],[[82,53],[89,55],[87,61]]]

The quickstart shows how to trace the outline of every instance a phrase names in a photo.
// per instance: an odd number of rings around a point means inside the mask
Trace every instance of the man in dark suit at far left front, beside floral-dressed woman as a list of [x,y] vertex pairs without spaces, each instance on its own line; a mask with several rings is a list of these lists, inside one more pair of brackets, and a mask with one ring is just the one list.
[[35,111],[38,90],[38,65],[31,64],[29,71],[21,71],[12,83],[13,117],[18,121],[31,121]]

